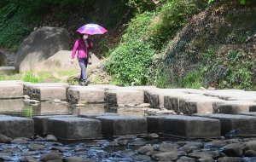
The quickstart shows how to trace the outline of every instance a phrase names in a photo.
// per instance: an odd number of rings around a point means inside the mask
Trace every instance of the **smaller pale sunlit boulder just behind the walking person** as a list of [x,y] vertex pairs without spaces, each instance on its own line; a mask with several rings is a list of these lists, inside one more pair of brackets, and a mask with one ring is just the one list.
[[42,61],[35,67],[35,71],[66,71],[66,70],[80,70],[78,59],[71,64],[70,50],[60,50],[55,55],[50,56],[46,61]]

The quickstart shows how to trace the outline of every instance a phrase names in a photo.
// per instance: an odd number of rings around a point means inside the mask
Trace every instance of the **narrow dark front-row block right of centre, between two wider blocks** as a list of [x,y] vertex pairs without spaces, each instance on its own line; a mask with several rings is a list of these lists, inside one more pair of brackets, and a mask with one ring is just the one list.
[[148,133],[164,134],[165,132],[165,119],[169,115],[160,116],[149,116],[147,117],[148,122]]

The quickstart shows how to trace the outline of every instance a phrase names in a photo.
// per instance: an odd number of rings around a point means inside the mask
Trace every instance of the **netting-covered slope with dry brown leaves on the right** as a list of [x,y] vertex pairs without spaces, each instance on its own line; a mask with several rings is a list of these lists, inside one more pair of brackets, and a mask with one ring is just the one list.
[[213,3],[168,43],[160,65],[166,87],[255,88],[256,8]]

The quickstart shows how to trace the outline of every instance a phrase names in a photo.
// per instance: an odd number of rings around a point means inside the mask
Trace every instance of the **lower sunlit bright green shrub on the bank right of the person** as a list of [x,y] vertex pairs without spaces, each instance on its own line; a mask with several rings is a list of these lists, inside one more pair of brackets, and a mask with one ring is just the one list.
[[120,85],[144,85],[154,78],[151,77],[155,49],[146,41],[146,32],[154,13],[138,14],[131,20],[119,46],[111,52],[106,64],[113,80]]

